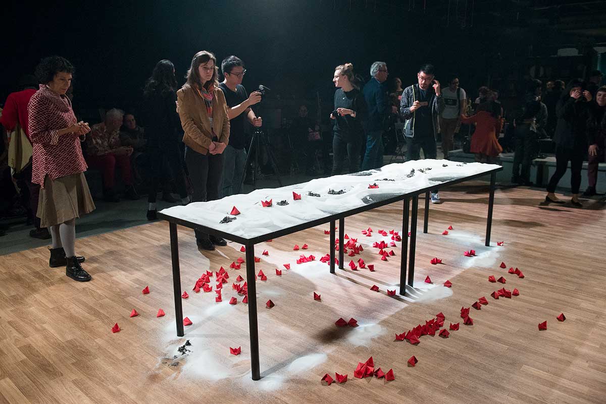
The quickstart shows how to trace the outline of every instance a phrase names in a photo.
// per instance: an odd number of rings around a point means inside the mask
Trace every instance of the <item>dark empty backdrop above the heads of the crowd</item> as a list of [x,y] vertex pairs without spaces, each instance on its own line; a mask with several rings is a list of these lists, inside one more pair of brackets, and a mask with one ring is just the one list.
[[[281,100],[328,102],[336,65],[352,62],[369,76],[387,62],[390,80],[416,80],[424,62],[446,85],[457,73],[468,96],[480,85],[506,89],[528,68],[568,79],[598,65],[606,42],[606,1],[251,0],[99,1],[3,5],[0,99],[16,90],[41,57],[59,54],[76,66],[74,105],[136,111],[142,86],[160,59],[175,63],[179,82],[199,50],[218,62],[246,63],[244,85],[269,86]],[[581,57],[554,58],[576,47]],[[511,86],[511,85],[509,85]]]

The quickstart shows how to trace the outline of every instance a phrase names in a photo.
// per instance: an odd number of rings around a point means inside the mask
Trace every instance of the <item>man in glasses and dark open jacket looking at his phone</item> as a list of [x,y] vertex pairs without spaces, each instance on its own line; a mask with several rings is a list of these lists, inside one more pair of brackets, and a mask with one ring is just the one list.
[[[421,149],[425,158],[436,158],[438,117],[444,111],[444,98],[438,80],[434,79],[433,65],[419,68],[418,83],[408,86],[402,93],[400,114],[406,137],[406,160],[419,160]],[[438,190],[431,192],[431,203],[441,203]]]

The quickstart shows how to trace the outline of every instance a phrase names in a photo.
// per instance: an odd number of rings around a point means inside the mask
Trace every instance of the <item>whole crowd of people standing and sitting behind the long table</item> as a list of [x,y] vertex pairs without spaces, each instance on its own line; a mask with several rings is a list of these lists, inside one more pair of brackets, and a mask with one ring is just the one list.
[[[10,94],[0,122],[10,132],[9,165],[28,217],[35,224],[30,235],[52,239],[51,267],[65,266],[70,278],[88,281],[92,277],[81,265],[84,257],[75,252],[76,218],[95,209],[84,171],[93,168],[101,173],[103,198],[108,202],[119,201],[116,168],[126,198],[138,200],[136,186],[145,184],[148,220],[157,218],[159,191],[164,199],[184,205],[238,194],[246,169],[247,126],[262,126],[262,118],[251,107],[262,96],[259,91],[248,94],[242,85],[243,60],[225,58],[219,74],[215,55],[200,51],[191,60],[182,86],[170,60],[156,64],[142,94],[145,129],[137,125],[134,114],[118,108],[109,109],[102,122],[89,126],[78,121],[72,109],[74,70],[63,57],[42,59],[36,76],[25,77],[22,90]],[[592,73],[588,83],[571,80],[565,88],[562,82],[549,82],[544,97],[542,82],[528,80],[519,105],[513,112],[507,111],[510,119],[504,138],[499,135],[507,112],[497,91],[482,87],[471,103],[457,76],[448,77],[444,88],[431,64],[422,65],[416,76],[404,87],[396,78],[389,91],[385,62],[371,64],[370,80],[365,83],[352,64],[335,68],[334,108],[328,117],[332,124],[331,175],[344,171],[346,159],[348,172],[381,168],[384,135],[395,122],[403,128],[407,160],[418,160],[421,151],[424,158],[437,158],[438,136],[444,158],[449,158],[461,125],[473,125],[468,148],[477,161],[496,161],[502,143],[510,138],[515,150],[512,181],[520,184],[530,184],[537,140],[553,133],[556,171],[547,186],[546,203],[564,203],[554,191],[570,161],[571,204],[582,206],[579,187],[585,157],[589,160],[585,195],[596,193],[598,164],[606,157],[606,87],[598,85],[599,74]],[[308,116],[307,106],[301,105],[290,126],[301,151],[295,162],[307,174],[313,173],[313,158],[322,137],[319,124]],[[442,202],[438,189],[431,192],[431,202]],[[195,236],[204,250],[227,245],[224,239],[200,229]]]

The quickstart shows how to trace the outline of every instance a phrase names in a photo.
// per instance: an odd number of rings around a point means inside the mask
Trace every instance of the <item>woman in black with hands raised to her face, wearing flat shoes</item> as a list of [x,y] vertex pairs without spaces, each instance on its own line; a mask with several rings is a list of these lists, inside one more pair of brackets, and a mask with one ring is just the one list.
[[571,80],[556,105],[558,123],[553,141],[556,143],[556,172],[547,185],[546,203],[564,203],[554,192],[558,181],[566,174],[570,161],[570,184],[573,206],[582,207],[579,202],[581,187],[581,169],[587,155],[587,120],[591,116],[591,93],[584,91],[585,83],[579,79]]

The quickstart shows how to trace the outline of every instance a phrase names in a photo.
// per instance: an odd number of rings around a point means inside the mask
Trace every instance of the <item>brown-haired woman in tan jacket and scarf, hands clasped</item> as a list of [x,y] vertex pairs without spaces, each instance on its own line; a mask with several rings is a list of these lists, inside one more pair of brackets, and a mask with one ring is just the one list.
[[[218,88],[216,57],[199,51],[191,60],[187,82],[177,91],[177,106],[185,135],[185,164],[193,184],[193,201],[219,198],[223,151],[229,142],[225,96]],[[227,246],[219,237],[196,229],[196,243],[205,250]]]

